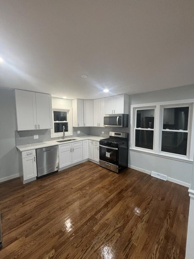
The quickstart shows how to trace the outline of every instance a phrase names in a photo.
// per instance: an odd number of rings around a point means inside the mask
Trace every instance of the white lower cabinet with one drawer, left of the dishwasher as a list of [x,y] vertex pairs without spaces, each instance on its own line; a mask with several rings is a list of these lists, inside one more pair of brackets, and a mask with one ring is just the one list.
[[[32,178],[36,178],[36,150],[28,150],[22,152],[22,168],[20,168],[20,177],[23,183],[30,181]],[[35,179],[33,179],[35,180]]]

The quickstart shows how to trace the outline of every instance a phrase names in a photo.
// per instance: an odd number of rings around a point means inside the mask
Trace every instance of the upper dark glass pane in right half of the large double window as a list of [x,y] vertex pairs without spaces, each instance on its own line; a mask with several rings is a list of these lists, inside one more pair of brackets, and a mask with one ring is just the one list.
[[189,107],[164,108],[163,129],[187,130]]

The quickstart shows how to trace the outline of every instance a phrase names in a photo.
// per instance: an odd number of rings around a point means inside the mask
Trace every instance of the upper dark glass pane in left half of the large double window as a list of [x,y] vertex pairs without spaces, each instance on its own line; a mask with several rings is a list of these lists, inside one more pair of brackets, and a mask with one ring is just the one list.
[[136,128],[154,128],[154,109],[137,110]]

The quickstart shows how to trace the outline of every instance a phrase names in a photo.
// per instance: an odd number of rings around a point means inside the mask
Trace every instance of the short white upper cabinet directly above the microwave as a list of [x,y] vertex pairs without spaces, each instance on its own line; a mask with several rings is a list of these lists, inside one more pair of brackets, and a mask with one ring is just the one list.
[[105,114],[129,114],[129,95],[115,95],[105,98]]

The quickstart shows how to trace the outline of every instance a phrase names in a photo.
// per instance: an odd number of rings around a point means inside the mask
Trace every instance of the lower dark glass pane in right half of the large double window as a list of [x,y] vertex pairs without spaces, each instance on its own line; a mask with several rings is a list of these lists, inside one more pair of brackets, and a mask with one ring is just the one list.
[[187,153],[187,132],[162,131],[162,151],[185,155]]

